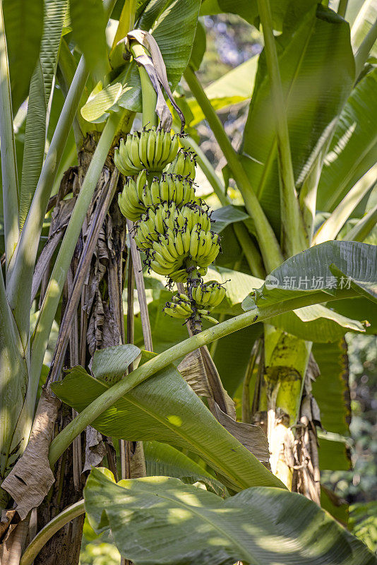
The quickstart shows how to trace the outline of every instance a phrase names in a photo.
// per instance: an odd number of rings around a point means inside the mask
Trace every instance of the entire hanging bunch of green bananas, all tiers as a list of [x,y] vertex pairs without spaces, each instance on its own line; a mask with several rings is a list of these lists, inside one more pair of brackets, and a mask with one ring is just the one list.
[[215,280],[203,283],[202,277],[220,251],[220,237],[211,230],[208,206],[195,195],[195,157],[179,150],[177,136],[162,130],[128,134],[114,153],[126,176],[118,202],[121,213],[135,222],[133,237],[148,270],[166,276],[170,287],[186,283],[186,294],[173,296],[165,314],[217,323],[209,314],[225,289]]

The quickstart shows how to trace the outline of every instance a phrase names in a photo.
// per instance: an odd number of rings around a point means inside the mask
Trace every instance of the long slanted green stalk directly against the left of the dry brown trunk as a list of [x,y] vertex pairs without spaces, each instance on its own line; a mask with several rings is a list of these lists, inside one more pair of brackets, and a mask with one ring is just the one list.
[[71,263],[71,258],[83,225],[85,214],[87,213],[90,201],[92,200],[95,186],[100,178],[102,167],[104,166],[107,154],[109,153],[109,149],[112,145],[117,126],[125,114],[133,117],[133,113],[128,110],[123,110],[121,114],[111,114],[107,120],[107,124],[104,126],[104,131],[102,131],[100,141],[98,142],[95,153],[90,161],[88,171],[85,174],[85,179],[81,186],[75,208],[73,208],[71,220],[69,221],[66,229],[64,239],[61,242],[59,254],[56,258],[54,269],[52,270],[52,275],[49,280],[49,285],[40,309],[40,316],[37,319],[35,331],[32,335],[32,362],[30,372],[34,382],[37,382],[37,379],[39,378],[52,322],[54,321],[64,281],[66,280],[66,273],[68,271],[69,264]]

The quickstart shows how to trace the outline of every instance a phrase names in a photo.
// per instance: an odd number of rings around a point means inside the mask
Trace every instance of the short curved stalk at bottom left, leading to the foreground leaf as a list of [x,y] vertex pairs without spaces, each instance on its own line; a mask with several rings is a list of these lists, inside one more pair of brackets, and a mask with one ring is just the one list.
[[42,547],[47,544],[52,536],[61,528],[64,528],[68,522],[83,513],[85,513],[84,501],[79,500],[76,504],[68,506],[68,508],[60,512],[57,516],[55,516],[55,518],[52,518],[52,520],[37,533],[25,549],[25,552],[23,552],[20,559],[20,565],[32,565],[37,554],[39,554]]

